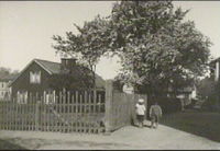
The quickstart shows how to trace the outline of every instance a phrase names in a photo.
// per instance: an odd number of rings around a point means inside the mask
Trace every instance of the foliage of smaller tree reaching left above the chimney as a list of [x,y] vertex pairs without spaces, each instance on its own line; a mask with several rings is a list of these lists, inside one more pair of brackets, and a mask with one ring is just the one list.
[[95,71],[97,62],[106,51],[102,45],[102,31],[106,26],[106,20],[97,15],[95,20],[85,22],[82,27],[77,24],[74,25],[79,34],[66,32],[65,38],[54,35],[53,39],[56,44],[53,47],[57,53],[77,58],[79,63]]

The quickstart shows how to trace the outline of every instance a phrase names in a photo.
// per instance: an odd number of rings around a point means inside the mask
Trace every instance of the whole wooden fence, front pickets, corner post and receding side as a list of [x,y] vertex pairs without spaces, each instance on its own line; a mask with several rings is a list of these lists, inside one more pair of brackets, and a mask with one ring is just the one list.
[[[48,96],[48,97],[47,97]],[[106,91],[29,94],[0,102],[0,129],[61,132],[111,132],[135,123],[135,103],[146,95],[125,94],[106,83]]]

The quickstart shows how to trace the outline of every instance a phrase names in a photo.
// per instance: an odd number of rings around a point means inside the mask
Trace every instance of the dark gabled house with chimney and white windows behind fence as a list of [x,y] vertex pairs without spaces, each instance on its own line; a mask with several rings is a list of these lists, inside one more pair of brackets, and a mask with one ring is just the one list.
[[[78,67],[78,65],[76,65],[76,60],[72,58],[63,58],[61,63],[34,59],[10,84],[12,97],[16,97],[19,102],[23,103],[28,102],[28,97],[30,95],[46,95],[46,97],[50,97],[50,95],[55,93],[55,90],[51,86],[53,83],[51,83],[50,80],[54,76],[58,77],[58,79],[65,79],[63,73],[78,74],[77,70],[72,70],[73,72],[68,72],[75,67]],[[97,74],[96,86],[97,89],[105,89],[105,81]]]

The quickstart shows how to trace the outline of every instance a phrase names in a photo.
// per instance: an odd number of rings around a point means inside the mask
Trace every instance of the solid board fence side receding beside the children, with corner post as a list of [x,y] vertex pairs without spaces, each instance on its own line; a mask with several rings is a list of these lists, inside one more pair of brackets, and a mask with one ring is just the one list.
[[135,123],[135,104],[139,98],[144,98],[147,109],[146,94],[127,94],[113,90],[112,82],[107,82],[106,86],[106,131],[110,132],[123,126]]

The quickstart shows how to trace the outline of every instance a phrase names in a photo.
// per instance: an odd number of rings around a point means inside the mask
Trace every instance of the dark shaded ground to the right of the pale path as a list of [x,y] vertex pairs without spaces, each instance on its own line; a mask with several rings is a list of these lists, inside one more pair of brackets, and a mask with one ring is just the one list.
[[220,114],[188,109],[164,115],[161,124],[220,142]]

